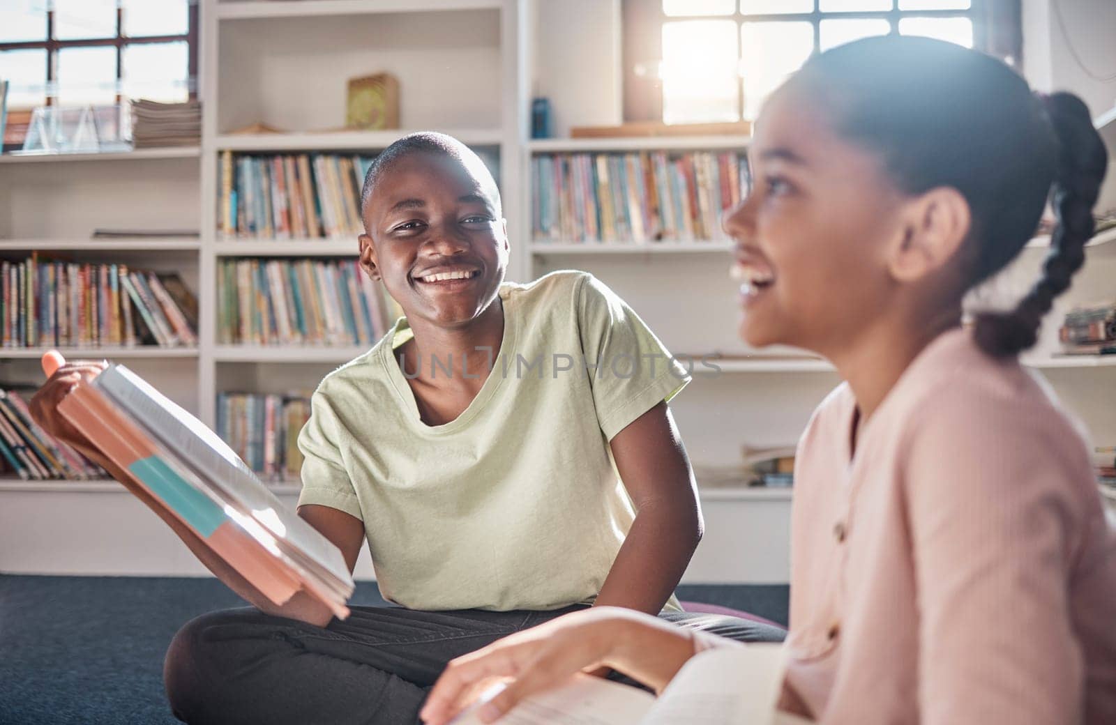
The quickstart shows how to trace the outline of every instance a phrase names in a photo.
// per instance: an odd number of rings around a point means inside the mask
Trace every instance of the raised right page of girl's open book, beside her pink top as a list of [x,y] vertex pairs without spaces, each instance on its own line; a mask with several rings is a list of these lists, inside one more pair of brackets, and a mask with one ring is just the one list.
[[781,645],[708,649],[679,670],[639,725],[775,725],[785,657]]

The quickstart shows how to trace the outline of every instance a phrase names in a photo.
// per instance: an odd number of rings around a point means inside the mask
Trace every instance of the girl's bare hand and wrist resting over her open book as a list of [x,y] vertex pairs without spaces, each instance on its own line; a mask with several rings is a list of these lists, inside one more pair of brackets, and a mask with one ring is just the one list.
[[627,609],[594,607],[454,659],[420,715],[427,725],[444,725],[485,685],[510,678],[478,712],[481,722],[492,723],[523,698],[600,666],[660,688],[692,655],[692,639],[677,627]]

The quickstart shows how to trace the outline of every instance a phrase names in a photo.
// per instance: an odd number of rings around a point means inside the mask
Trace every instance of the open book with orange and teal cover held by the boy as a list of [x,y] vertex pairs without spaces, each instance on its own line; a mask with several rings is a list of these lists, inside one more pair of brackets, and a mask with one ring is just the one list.
[[337,547],[289,511],[201,420],[123,365],[79,383],[58,412],[276,605],[305,590],[348,616]]

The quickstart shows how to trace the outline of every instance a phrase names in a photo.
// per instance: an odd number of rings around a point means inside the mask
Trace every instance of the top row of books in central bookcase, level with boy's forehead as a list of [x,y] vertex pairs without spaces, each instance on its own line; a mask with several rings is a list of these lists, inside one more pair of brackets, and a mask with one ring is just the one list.
[[[477,149],[499,183],[499,160]],[[364,232],[360,190],[375,156],[221,153],[218,232],[229,239],[352,239]]]

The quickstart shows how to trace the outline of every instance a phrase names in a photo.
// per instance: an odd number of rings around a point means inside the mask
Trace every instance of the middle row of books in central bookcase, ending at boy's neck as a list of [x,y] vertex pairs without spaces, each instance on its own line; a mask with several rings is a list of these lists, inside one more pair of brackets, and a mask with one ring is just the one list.
[[372,345],[403,315],[355,259],[234,259],[218,265],[222,345]]

